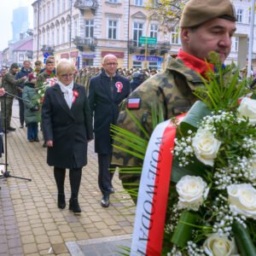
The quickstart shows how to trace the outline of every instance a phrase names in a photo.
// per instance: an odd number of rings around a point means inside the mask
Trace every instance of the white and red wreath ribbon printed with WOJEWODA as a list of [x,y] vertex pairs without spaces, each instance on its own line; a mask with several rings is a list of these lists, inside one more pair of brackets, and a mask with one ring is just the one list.
[[[185,114],[177,118],[178,122]],[[160,256],[172,172],[172,149],[176,125],[170,120],[157,125],[143,162],[131,256]]]

